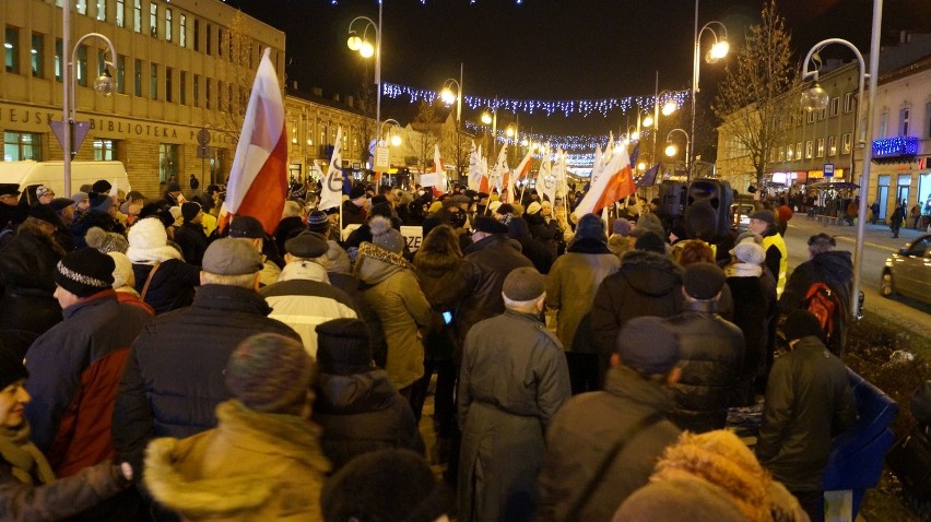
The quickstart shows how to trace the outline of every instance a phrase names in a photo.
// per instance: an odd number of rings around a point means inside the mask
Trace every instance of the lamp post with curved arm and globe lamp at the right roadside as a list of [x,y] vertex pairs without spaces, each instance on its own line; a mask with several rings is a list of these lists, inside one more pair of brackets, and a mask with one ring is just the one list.
[[[879,38],[877,35],[879,35],[880,20],[882,17],[882,0],[875,0],[875,2],[879,7],[876,7],[874,4],[874,12],[873,12],[873,39],[874,39],[874,41],[873,41],[873,45],[876,45],[875,39]],[[816,58],[817,63],[820,64],[821,59],[820,59],[818,54],[821,52],[822,49],[824,49],[825,47],[827,47],[828,45],[832,45],[832,44],[839,44],[839,45],[846,46],[848,49],[853,51],[853,55],[857,57],[857,64],[859,66],[859,76],[860,76],[859,78],[859,86],[858,86],[858,95],[857,95],[857,98],[859,100],[862,102],[862,99],[863,99],[863,84],[865,83],[867,79],[869,78],[870,80],[872,80],[872,79],[875,78],[875,74],[876,74],[876,71],[877,71],[875,63],[876,63],[877,60],[871,60],[870,72],[868,74],[867,73],[867,66],[865,66],[865,62],[863,61],[863,55],[860,54],[860,50],[857,49],[857,47],[853,44],[851,44],[851,43],[849,43],[845,39],[840,39],[840,38],[828,38],[826,40],[818,41],[817,44],[815,44],[814,47],[812,47],[809,50],[809,54],[805,56],[805,60],[803,62],[803,69],[802,69],[802,81],[811,80],[811,81],[814,82],[814,85],[812,85],[810,88],[805,90],[802,93],[802,98],[801,98],[802,107],[805,110],[808,110],[809,112],[814,111],[814,110],[824,110],[825,108],[827,108],[827,105],[830,102],[830,96],[828,95],[827,91],[822,88],[822,86],[818,85],[818,83],[817,83],[817,79],[818,79],[817,69],[815,69],[814,71],[809,71],[809,64],[812,62],[812,58]],[[873,56],[873,57],[879,56],[877,54],[875,54],[876,49],[873,49],[873,51],[874,51],[874,54],[871,55],[871,56]],[[875,82],[871,81],[870,82],[870,100],[869,100],[869,104],[867,105],[868,108],[867,108],[867,133],[865,133],[865,135],[868,137],[868,139],[872,139],[872,135],[873,135],[872,134],[872,132],[873,132],[873,104],[875,102],[875,96],[876,96]],[[860,104],[858,104],[857,114],[853,117],[853,134],[852,135],[855,137],[855,139],[857,137],[857,124],[859,123],[861,109],[862,109],[862,107],[860,106]],[[857,245],[853,249],[853,292],[851,292],[851,294],[850,294],[850,313],[855,318],[858,316],[858,313],[860,311],[859,295],[860,295],[860,285],[862,283],[861,272],[862,272],[862,264],[863,264],[863,236],[864,236],[864,233],[865,233],[864,227],[865,227],[865,223],[867,223],[867,204],[868,204],[867,198],[870,194],[870,163],[873,159],[873,147],[870,146],[869,144],[865,144],[863,141],[860,141],[860,145],[865,145],[865,146],[863,146],[863,168],[862,168],[862,171],[860,173],[860,207],[858,209],[858,220],[857,220]],[[856,153],[857,153],[857,147],[851,146],[850,147],[850,181],[851,182],[853,181],[853,167],[855,167],[855,155],[856,155]]]

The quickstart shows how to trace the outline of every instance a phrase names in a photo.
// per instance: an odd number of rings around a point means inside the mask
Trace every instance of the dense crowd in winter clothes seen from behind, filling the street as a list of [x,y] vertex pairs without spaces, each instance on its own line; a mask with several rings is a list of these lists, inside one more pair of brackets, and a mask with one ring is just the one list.
[[698,238],[658,200],[360,182],[269,233],[108,185],[0,186],[2,520],[823,520],[828,235],[789,275],[770,209]]

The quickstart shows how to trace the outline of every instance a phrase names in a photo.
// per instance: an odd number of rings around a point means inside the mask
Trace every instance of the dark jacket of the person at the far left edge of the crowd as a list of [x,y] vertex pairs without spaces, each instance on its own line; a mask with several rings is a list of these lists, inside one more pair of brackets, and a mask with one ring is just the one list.
[[0,332],[19,355],[61,322],[61,305],[52,295],[59,260],[61,254],[51,239],[30,233],[16,234],[0,249],[0,280],[5,288]]

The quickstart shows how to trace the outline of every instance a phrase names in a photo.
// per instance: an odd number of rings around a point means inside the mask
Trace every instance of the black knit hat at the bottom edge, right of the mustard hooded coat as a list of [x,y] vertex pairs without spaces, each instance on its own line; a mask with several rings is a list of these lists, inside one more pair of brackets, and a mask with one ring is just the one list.
[[353,459],[320,494],[327,521],[433,522],[452,502],[452,491],[436,482],[422,455],[394,449]]

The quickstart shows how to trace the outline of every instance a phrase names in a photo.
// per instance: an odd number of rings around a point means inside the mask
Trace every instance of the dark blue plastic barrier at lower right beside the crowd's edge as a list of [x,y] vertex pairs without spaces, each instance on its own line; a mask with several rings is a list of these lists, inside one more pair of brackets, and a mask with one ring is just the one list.
[[886,451],[895,439],[888,427],[898,415],[898,403],[850,368],[847,372],[858,419],[834,440],[823,483],[825,491],[853,491],[856,518],[867,489],[875,487],[883,473]]

